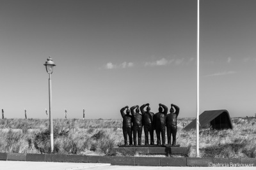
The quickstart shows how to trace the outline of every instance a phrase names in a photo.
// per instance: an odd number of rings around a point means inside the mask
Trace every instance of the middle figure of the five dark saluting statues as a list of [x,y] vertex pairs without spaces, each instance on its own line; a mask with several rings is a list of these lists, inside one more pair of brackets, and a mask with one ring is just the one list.
[[[145,106],[148,106],[147,111],[144,111]],[[150,145],[154,145],[154,124],[153,124],[154,113],[150,111],[150,107],[148,103],[140,106],[140,111],[143,116],[142,124],[144,125],[145,145],[148,145],[148,132],[150,134]]]

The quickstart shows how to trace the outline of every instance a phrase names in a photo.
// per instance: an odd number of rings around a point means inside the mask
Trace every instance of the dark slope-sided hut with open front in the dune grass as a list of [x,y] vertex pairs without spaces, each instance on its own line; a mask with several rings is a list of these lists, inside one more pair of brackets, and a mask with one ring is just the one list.
[[[232,121],[227,110],[209,110],[199,115],[199,129],[233,129]],[[188,124],[184,130],[196,129],[196,119]]]

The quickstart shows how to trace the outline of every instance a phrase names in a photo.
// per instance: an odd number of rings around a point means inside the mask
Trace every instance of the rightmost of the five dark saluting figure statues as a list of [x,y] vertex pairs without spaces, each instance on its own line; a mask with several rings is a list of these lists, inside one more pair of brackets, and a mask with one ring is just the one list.
[[[173,111],[175,108],[175,112]],[[168,145],[171,145],[172,135],[172,146],[176,145],[176,134],[177,134],[177,117],[179,115],[180,108],[175,104],[171,104],[170,114],[166,115],[166,128]]]

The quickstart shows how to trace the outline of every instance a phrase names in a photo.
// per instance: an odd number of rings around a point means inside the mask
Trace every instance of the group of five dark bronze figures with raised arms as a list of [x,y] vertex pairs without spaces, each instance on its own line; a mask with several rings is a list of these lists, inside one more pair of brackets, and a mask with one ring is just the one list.
[[[145,107],[146,111],[144,110]],[[136,111],[134,112],[134,110]],[[125,111],[126,110],[126,114]],[[130,115],[131,110],[131,115]],[[161,145],[160,134],[162,138],[162,145],[165,146],[165,130],[167,130],[167,143],[171,145],[171,136],[173,138],[172,146],[176,145],[176,134],[177,134],[177,117],[179,115],[179,107],[175,104],[171,104],[170,113],[168,108],[164,104],[159,104],[159,112],[154,114],[150,111],[149,104],[143,104],[140,106],[132,106],[129,110],[128,106],[125,106],[120,110],[123,118],[123,134],[124,134],[124,145],[127,146],[127,136],[129,138],[129,145],[132,145],[132,134],[133,144],[141,145],[141,134],[142,127],[144,126],[145,133],[145,145],[148,143],[148,133],[150,134],[150,145],[154,145],[154,130],[156,130],[157,145]],[[175,110],[175,111],[174,111]],[[141,111],[141,113],[140,113]]]

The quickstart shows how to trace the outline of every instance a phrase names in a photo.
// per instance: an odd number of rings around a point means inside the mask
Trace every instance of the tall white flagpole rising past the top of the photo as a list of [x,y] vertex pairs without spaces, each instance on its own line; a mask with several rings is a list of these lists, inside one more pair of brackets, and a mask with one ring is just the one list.
[[196,157],[199,157],[199,1],[197,0]]

